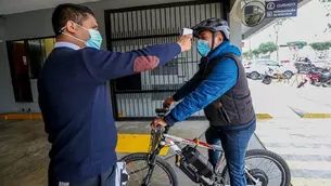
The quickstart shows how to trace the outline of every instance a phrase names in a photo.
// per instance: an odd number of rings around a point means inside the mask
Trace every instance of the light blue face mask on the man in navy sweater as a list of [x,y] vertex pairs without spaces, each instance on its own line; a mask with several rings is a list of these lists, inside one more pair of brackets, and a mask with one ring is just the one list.
[[[90,36],[89,40],[84,41],[84,40],[81,40],[79,38],[76,38],[76,37],[74,37],[72,35],[68,35],[66,32],[62,32],[62,34],[65,35],[65,36],[72,37],[72,38],[74,38],[74,39],[76,39],[76,40],[78,40],[80,42],[84,42],[86,46],[94,48],[94,49],[100,49],[101,48],[101,43],[102,43],[102,37],[101,37],[100,32],[98,30],[96,30],[96,29],[87,29],[84,26],[80,26],[80,25],[78,25],[78,26],[84,28],[84,29],[86,29],[87,31],[89,31],[89,36]],[[62,30],[65,27],[63,27]]]

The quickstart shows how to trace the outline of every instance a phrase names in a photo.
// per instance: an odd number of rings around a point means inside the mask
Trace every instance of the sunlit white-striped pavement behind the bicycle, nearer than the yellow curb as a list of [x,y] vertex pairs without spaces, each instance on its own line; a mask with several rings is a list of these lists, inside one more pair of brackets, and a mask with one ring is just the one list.
[[273,119],[258,122],[264,146],[283,157],[293,186],[331,186],[331,119]]

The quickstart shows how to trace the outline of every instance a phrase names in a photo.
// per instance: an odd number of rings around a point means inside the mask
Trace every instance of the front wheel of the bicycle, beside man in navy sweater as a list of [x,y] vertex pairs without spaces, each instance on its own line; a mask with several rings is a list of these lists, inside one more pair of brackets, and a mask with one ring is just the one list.
[[[139,186],[143,183],[150,169],[148,159],[149,154],[130,154],[122,158],[122,161],[126,162],[127,172],[130,176],[127,186]],[[150,186],[178,186],[174,169],[158,156],[156,157]]]

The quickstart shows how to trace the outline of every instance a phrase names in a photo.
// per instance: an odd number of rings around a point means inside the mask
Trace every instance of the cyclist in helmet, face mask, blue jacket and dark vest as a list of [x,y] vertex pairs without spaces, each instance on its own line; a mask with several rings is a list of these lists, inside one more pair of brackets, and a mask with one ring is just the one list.
[[[181,101],[167,116],[154,119],[152,128],[158,124],[174,125],[204,109],[209,121],[205,134],[207,143],[218,145],[221,142],[231,185],[246,185],[244,157],[256,120],[247,79],[239,58],[241,53],[230,44],[226,21],[209,18],[192,29],[194,37],[199,38],[198,51],[202,55],[200,69],[173,97],[164,102],[164,105],[173,105]],[[221,57],[225,54],[232,57]],[[219,154],[209,150],[208,158],[215,167]]]

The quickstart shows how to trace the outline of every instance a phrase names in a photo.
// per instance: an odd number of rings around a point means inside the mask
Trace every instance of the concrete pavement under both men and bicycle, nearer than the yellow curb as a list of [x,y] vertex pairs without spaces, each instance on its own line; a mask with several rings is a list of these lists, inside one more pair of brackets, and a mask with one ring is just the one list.
[[[329,186],[331,183],[331,120],[272,119],[258,121],[256,135],[267,149],[283,157],[294,186]],[[170,134],[196,137],[207,128],[205,121],[178,123]],[[49,144],[41,121],[0,122],[0,185],[41,186],[47,183]],[[148,122],[117,122],[119,133],[150,132]],[[250,148],[262,148],[253,137]],[[206,150],[201,150],[206,156]],[[125,154],[118,154],[122,158]],[[174,164],[175,160],[168,160]],[[193,185],[177,168],[180,186]]]

